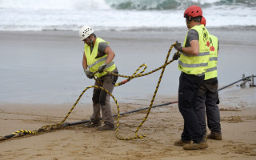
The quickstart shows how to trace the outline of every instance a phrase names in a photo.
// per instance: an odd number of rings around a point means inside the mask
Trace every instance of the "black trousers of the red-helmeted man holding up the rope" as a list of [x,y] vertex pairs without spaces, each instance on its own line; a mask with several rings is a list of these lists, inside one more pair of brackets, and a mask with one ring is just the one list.
[[198,77],[183,72],[179,77],[178,109],[184,119],[182,141],[193,140],[194,142],[200,142],[203,138],[195,112],[197,110],[198,90],[204,78],[204,75]]

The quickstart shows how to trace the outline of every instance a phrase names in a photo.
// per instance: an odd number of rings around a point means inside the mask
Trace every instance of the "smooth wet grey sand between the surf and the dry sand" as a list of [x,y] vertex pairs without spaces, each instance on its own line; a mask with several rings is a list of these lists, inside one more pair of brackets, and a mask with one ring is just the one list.
[[[256,29],[210,28],[218,36],[219,86],[256,74],[254,54]],[[110,42],[119,74],[131,75],[146,63],[149,72],[162,66],[170,46],[183,41],[186,28],[170,30],[96,31]],[[74,31],[0,32],[0,102],[54,103],[74,102],[86,86],[94,81],[82,70],[83,43]],[[170,58],[172,58],[172,50]],[[146,77],[135,78],[114,89],[119,102],[148,98],[154,93],[161,70]],[[177,95],[178,62],[166,66],[158,95]],[[121,82],[125,78],[119,78]],[[222,90],[225,92],[226,90]],[[81,102],[89,103],[91,90]]]

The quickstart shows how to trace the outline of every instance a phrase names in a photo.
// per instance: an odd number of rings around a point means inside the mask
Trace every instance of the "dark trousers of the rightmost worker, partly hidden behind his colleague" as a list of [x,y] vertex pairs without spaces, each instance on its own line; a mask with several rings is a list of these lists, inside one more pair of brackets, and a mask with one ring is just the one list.
[[201,126],[202,134],[206,134],[207,125],[211,132],[221,134],[220,114],[217,105],[218,101],[218,79],[211,78],[203,82],[198,91],[198,122]]

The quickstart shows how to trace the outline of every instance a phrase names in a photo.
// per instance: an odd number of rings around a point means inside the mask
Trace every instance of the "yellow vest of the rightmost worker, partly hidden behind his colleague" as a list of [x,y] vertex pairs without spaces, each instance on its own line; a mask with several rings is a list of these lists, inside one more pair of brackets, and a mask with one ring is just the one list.
[[210,58],[206,69],[205,80],[216,78],[218,62],[218,38],[210,34]]

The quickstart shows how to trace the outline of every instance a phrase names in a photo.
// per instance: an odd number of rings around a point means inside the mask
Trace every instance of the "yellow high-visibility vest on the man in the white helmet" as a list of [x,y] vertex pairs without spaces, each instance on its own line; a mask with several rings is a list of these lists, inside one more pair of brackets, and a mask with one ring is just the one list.
[[[87,44],[85,44],[84,46],[84,50],[85,50],[85,54],[86,54],[86,60],[87,60],[87,66],[89,68],[89,70],[91,72],[95,72],[98,70],[99,66],[102,66],[102,64],[104,62],[106,62],[106,58],[107,58],[107,54],[100,57],[100,58],[95,58],[98,54],[98,44],[100,42],[106,42],[104,41],[102,38],[96,38],[96,41],[94,43],[94,49],[92,51],[92,53],[90,53],[90,46],[88,46]],[[108,42],[106,42],[107,44],[109,44]],[[112,72],[115,69],[115,64],[114,61],[110,62],[109,64],[107,64],[105,70]],[[102,72],[94,74],[96,77],[100,78],[103,75],[106,75],[106,72]]]

